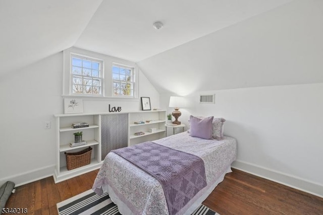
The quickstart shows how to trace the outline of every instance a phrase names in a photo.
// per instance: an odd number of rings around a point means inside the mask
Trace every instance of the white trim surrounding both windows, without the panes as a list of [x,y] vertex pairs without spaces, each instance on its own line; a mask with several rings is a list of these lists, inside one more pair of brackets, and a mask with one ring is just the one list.
[[[84,56],[91,59],[103,61],[103,93],[102,95],[75,95],[71,92],[71,55]],[[113,95],[113,80],[112,80],[112,66],[113,64],[127,66],[134,68],[134,96],[114,96]],[[139,69],[136,63],[126,61],[123,59],[102,55],[93,51],[84,50],[81,48],[71,47],[63,51],[63,97],[85,97],[85,98],[97,98],[97,99],[139,99]]]

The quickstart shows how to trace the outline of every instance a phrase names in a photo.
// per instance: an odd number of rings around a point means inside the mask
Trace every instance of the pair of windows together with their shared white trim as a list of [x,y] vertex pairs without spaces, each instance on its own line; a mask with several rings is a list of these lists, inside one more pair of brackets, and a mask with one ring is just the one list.
[[63,95],[137,100],[139,69],[134,62],[71,47],[63,51]]

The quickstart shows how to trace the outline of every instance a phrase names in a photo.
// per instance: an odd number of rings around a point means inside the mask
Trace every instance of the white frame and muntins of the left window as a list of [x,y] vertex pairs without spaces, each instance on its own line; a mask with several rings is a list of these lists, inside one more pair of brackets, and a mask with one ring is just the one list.
[[[72,63],[72,60],[73,58],[78,58],[78,59],[82,59],[82,60],[87,60],[87,61],[91,61],[91,62],[98,62],[99,63],[99,77],[94,77],[94,76],[88,76],[88,77],[91,77],[92,79],[95,78],[95,79],[100,79],[101,81],[101,86],[100,86],[100,93],[99,94],[93,94],[93,93],[84,93],[84,91],[82,93],[74,93],[73,92],[73,86],[74,86],[74,83],[73,83],[73,77],[75,74],[73,74],[73,63]],[[88,57],[88,56],[83,56],[83,55],[78,55],[76,53],[71,53],[70,55],[70,94],[71,95],[75,95],[75,96],[91,96],[91,97],[103,97],[104,94],[104,61],[101,60],[101,59],[96,59],[96,58],[92,58],[92,57]],[[82,66],[82,69],[83,69],[83,66]],[[84,77],[87,77],[87,76],[84,76],[83,74],[80,75],[82,76],[82,79]],[[84,87],[84,83],[82,82],[82,86]],[[93,84],[92,84],[93,86]]]

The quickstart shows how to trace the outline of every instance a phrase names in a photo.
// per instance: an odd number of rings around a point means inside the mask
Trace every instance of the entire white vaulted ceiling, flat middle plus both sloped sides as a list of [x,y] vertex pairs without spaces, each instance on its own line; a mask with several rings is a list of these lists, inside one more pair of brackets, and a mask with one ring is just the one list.
[[[307,48],[305,65],[311,58],[315,68],[304,83],[314,76],[323,81],[315,57],[322,45],[312,42],[322,34],[315,26],[322,24],[321,2],[0,0],[0,76],[76,46],[137,62],[159,92],[187,91],[181,85],[212,90],[297,84],[306,77],[305,66],[291,66],[295,56],[282,57]],[[164,27],[154,29],[155,21]],[[160,81],[165,77],[168,83]]]

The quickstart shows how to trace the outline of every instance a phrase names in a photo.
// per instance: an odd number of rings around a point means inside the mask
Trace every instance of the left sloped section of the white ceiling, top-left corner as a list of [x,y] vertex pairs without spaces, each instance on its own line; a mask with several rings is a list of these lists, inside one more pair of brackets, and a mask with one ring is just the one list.
[[102,0],[0,0],[0,76],[75,44]]

